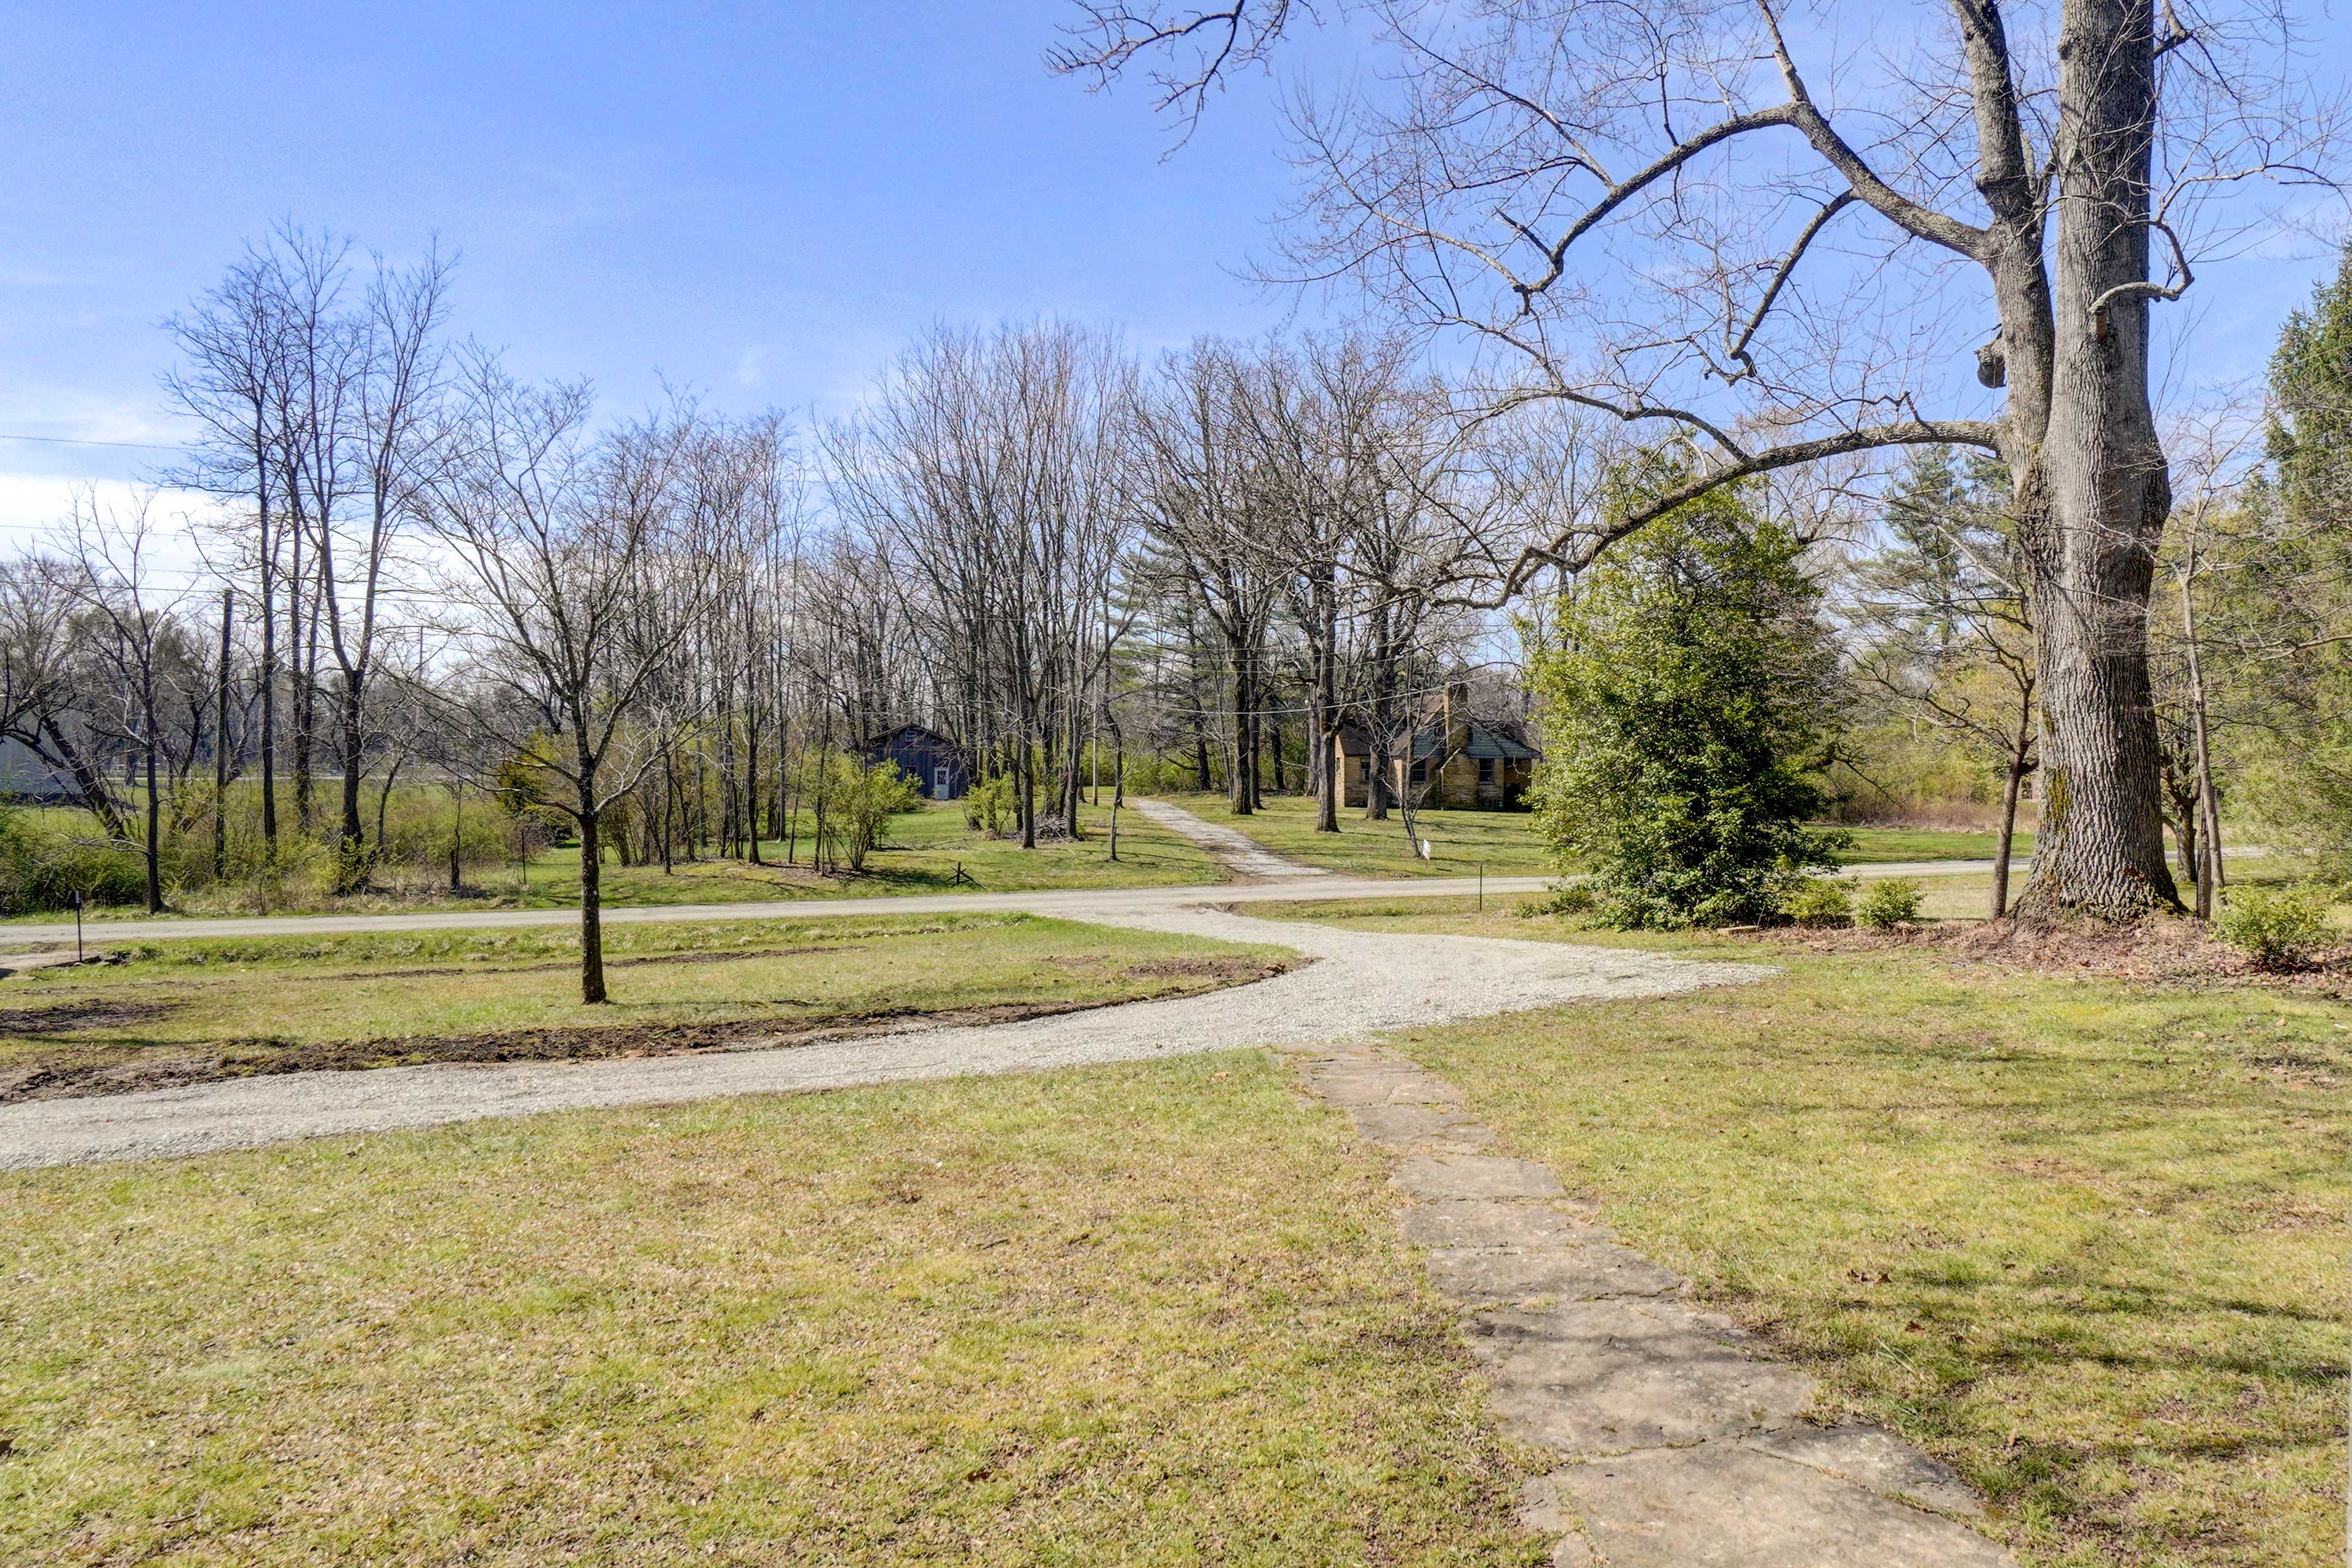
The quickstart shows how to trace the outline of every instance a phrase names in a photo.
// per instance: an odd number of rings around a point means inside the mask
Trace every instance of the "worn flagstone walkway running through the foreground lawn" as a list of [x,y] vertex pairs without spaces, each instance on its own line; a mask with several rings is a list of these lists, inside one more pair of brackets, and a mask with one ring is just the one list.
[[1491,1154],[1451,1084],[1378,1044],[1291,1053],[1397,1154],[1404,1239],[1461,1305],[1503,1429],[1559,1455],[1522,1512],[1555,1568],[2013,1568],[1959,1476],[1816,1420],[1811,1375],[1693,1307],[1548,1168]]

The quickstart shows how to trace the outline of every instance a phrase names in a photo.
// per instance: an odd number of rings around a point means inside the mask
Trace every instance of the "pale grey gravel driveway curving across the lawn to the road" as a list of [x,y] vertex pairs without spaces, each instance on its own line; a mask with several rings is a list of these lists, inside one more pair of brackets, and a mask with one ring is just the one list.
[[[1315,886],[1322,891],[1324,884]],[[1235,889],[1183,891],[1195,900],[1223,900]],[[87,1100],[28,1100],[0,1105],[0,1168],[205,1154],[285,1138],[597,1105],[1030,1072],[1258,1044],[1348,1041],[1411,1025],[1559,1001],[1661,997],[1773,973],[1755,964],[1693,964],[1562,943],[1275,924],[1157,900],[1094,912],[1089,919],[1279,943],[1315,961],[1256,985],[1171,1001],[1129,1001],[1028,1023],[910,1030],[774,1051],[289,1072]]]

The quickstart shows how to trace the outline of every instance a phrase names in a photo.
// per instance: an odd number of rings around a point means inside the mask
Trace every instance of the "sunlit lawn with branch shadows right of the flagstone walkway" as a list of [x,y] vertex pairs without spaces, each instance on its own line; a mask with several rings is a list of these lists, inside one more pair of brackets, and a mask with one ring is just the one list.
[[2027,1563],[2343,1561],[2343,1004],[1352,910],[1783,964],[1402,1046],[1832,1403],[1952,1460]]

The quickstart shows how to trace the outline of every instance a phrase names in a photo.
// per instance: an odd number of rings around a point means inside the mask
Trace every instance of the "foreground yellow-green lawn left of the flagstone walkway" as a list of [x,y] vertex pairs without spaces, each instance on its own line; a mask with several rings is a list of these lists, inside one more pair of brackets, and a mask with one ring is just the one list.
[[0,1561],[1519,1563],[1258,1053],[0,1175]]

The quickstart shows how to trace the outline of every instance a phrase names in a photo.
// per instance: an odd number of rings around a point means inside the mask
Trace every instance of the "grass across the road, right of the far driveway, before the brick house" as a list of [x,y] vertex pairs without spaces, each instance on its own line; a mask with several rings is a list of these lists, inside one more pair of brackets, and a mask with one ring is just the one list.
[[[1315,802],[1298,795],[1272,795],[1254,816],[1232,816],[1223,795],[1167,795],[1164,799],[1237,827],[1258,844],[1303,865],[1324,865],[1357,877],[1468,877],[1486,867],[1489,877],[1548,877],[1557,867],[1534,832],[1524,811],[1418,811],[1414,820],[1430,842],[1430,858],[1418,858],[1404,837],[1404,816],[1367,823],[1362,806],[1338,813],[1338,832],[1315,832]],[[1938,832],[1912,827],[1851,827],[1853,849],[1846,860],[1872,865],[1889,860],[1990,860],[1997,846],[1990,832]],[[2018,835],[2016,856],[2034,851],[2030,832]]]

